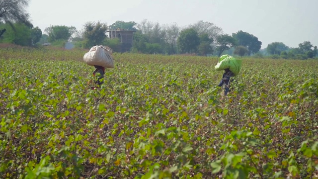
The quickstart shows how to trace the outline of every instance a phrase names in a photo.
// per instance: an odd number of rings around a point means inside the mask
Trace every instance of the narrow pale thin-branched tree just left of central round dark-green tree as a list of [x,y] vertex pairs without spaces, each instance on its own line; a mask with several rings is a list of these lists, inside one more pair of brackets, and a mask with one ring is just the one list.
[[163,31],[165,31],[163,39],[166,44],[166,49],[168,54],[175,54],[177,53],[177,38],[180,33],[180,28],[176,23],[171,25],[165,25],[163,27]]

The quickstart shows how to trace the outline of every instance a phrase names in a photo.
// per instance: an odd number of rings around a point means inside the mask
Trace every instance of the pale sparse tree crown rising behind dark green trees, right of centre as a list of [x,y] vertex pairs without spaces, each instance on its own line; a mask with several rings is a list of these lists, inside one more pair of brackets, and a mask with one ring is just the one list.
[[204,22],[203,20],[190,25],[190,28],[193,28],[199,35],[208,34],[210,39],[215,39],[222,33],[222,28],[216,26],[214,23]]

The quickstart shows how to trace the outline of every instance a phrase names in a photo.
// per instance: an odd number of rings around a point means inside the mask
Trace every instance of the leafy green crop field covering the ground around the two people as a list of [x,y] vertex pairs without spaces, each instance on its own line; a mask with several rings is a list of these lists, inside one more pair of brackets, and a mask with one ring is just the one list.
[[91,90],[86,50],[0,48],[2,179],[311,179],[317,60],[114,53]]

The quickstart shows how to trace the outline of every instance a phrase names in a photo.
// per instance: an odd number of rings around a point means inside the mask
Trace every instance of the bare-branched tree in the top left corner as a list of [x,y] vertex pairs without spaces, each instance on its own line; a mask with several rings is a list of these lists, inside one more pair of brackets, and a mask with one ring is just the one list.
[[[14,29],[14,22],[23,23],[32,28],[28,20],[29,14],[25,12],[29,0],[0,0],[0,21],[10,24]],[[0,29],[0,37],[6,29]]]

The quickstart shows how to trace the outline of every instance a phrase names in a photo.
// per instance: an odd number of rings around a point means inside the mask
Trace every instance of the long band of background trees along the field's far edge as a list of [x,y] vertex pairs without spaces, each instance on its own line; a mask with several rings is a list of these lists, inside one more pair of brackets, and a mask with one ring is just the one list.
[[64,47],[72,42],[78,48],[94,45],[107,45],[120,52],[119,38],[109,38],[107,30],[134,30],[131,52],[145,54],[195,54],[202,56],[270,57],[274,59],[308,59],[318,55],[317,46],[305,41],[297,48],[290,48],[282,42],[268,44],[260,50],[262,42],[252,34],[238,31],[232,35],[224,34],[221,27],[211,22],[198,21],[186,27],[176,23],[160,25],[158,22],[143,20],[141,23],[116,21],[111,25],[101,22],[86,22],[82,29],[73,26],[53,25],[42,33],[38,27],[23,23],[0,23],[6,29],[0,37],[1,43],[14,43],[23,46],[40,46],[45,42]]

